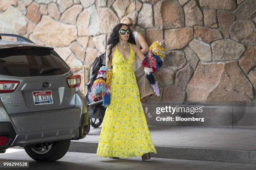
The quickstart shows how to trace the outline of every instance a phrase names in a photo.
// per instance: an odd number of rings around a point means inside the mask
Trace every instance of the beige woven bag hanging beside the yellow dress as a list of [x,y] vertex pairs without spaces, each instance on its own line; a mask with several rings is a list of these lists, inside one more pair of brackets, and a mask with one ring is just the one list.
[[135,70],[134,73],[140,91],[141,101],[143,100],[144,97],[155,94],[153,87],[150,85],[150,82],[146,78],[143,65],[138,67],[138,69]]

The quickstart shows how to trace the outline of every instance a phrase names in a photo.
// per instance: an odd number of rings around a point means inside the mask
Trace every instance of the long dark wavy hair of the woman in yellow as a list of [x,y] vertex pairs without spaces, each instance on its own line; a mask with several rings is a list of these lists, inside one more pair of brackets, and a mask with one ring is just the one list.
[[[112,48],[115,47],[115,45],[117,45],[117,43],[119,41],[119,37],[118,37],[119,33],[118,33],[118,31],[120,30],[120,28],[123,25],[126,25],[131,30],[131,28],[127,24],[123,24],[123,23],[120,23],[120,24],[116,25],[115,28],[113,28],[113,31],[110,34],[110,38],[108,39],[108,45],[111,44],[111,46],[110,46],[110,53],[108,55],[108,59],[109,59],[108,62],[110,61],[110,56],[111,56],[111,53],[112,53]],[[136,45],[136,41],[135,41],[135,39],[133,37],[133,32],[130,33],[128,42],[130,42],[131,44],[135,44]]]

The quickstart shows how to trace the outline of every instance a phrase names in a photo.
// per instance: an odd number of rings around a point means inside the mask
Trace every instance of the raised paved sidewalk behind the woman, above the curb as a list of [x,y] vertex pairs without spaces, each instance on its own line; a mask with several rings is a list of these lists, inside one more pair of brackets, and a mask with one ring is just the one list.
[[[229,150],[256,150],[256,130],[208,127],[148,126],[154,145]],[[99,142],[99,128],[92,128],[84,142]]]

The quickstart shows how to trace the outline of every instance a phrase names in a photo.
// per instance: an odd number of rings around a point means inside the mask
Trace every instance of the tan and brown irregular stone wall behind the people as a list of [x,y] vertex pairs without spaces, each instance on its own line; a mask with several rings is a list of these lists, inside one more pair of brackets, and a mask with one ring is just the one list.
[[161,96],[145,102],[256,103],[256,0],[1,0],[0,32],[54,47],[87,81],[124,16],[148,44],[167,38]]

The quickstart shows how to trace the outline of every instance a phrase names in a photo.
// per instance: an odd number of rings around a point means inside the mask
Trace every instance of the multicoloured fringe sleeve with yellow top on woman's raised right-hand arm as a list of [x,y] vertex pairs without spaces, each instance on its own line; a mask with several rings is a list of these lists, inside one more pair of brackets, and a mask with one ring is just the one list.
[[156,96],[160,96],[160,93],[153,74],[163,65],[166,52],[167,50],[155,41],[149,47],[148,55],[142,61],[146,78],[150,82],[151,87],[153,87]]

